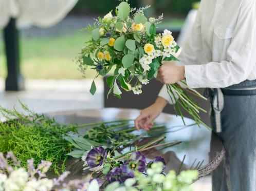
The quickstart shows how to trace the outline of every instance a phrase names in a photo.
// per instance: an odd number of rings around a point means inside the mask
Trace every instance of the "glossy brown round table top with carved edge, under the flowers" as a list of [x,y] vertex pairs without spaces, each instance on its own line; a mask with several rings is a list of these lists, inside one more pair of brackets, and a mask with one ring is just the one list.
[[[46,113],[48,117],[54,117],[58,123],[63,124],[85,124],[100,121],[114,121],[119,119],[135,119],[139,114],[137,109],[88,109],[75,111],[59,111]],[[172,114],[162,113],[155,120],[157,124],[164,124],[171,128],[167,133],[166,141],[182,141],[182,143],[162,150],[161,156],[167,162],[167,169],[176,172],[186,169],[197,169],[199,178],[208,175],[214,170],[225,155],[225,149],[220,138],[213,136],[211,142],[211,131],[206,127],[199,128],[194,121],[185,118],[186,127],[182,123],[181,117]],[[83,133],[85,129],[79,129]],[[213,149],[210,152],[210,142]],[[184,159],[184,156],[186,158]],[[148,158],[154,158],[156,153],[147,155]],[[181,165],[184,160],[184,164]],[[69,179],[82,178],[85,176],[83,163],[80,159],[70,159],[67,162],[67,170],[70,171]]]

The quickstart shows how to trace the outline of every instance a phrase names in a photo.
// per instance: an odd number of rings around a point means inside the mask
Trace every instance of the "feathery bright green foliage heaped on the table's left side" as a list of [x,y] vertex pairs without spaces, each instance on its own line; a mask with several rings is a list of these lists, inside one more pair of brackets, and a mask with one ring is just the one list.
[[[43,114],[37,114],[22,104],[27,115],[0,107],[0,112],[8,122],[0,123],[0,152],[12,150],[27,167],[27,160],[33,158],[35,166],[42,160],[52,163],[51,169],[59,174],[65,170],[67,154],[71,144],[63,139],[68,131],[76,131],[72,125],[62,125]],[[18,120],[17,120],[18,119]]]

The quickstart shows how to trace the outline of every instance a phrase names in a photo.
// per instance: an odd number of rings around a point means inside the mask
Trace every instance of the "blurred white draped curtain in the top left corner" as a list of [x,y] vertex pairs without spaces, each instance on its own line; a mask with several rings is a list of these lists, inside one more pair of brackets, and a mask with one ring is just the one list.
[[11,17],[17,18],[17,27],[35,25],[50,27],[60,22],[78,0],[0,0],[0,28]]

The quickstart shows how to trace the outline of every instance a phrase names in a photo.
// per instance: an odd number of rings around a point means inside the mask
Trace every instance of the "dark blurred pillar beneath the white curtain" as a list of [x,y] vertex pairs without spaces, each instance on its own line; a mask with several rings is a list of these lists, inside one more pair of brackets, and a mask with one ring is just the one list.
[[24,90],[24,79],[20,73],[19,31],[16,28],[15,18],[11,18],[4,29],[4,39],[8,70],[5,90]]

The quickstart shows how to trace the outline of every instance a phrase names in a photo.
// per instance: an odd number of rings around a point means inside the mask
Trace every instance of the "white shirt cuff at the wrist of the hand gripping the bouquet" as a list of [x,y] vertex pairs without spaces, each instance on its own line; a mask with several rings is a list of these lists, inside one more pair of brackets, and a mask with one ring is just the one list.
[[203,87],[202,80],[202,67],[201,65],[186,65],[186,82],[190,88],[200,88]]

